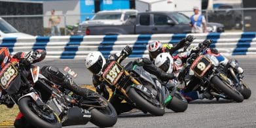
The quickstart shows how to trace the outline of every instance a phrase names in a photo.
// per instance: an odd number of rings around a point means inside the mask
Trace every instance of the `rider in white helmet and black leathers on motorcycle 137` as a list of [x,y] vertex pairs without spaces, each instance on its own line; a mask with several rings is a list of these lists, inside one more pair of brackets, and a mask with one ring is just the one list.
[[[132,48],[130,46],[126,46],[120,53],[122,55],[122,58],[120,59],[120,63],[123,59],[128,57],[131,53],[132,53]],[[101,74],[103,69],[107,67],[108,63],[110,63],[113,60],[117,60],[117,58],[119,57],[120,56],[118,54],[115,54],[113,56],[110,56],[109,60],[106,61],[103,55],[101,54],[101,52],[91,52],[90,54],[88,54],[85,60],[86,68],[94,74],[92,76],[92,82],[96,87],[96,91],[98,91],[98,93],[103,93],[103,97],[105,97],[106,99],[109,99],[109,92],[105,89],[105,85],[108,85],[108,84],[103,82],[101,78]],[[174,74],[168,74],[162,71],[147,58],[136,59],[136,61],[134,61],[133,63],[136,65],[142,66],[143,69],[145,69],[145,71],[148,71],[151,74],[155,74],[155,76],[158,76],[158,78],[163,81],[168,81],[174,78]],[[110,99],[110,103],[117,110],[117,114],[128,112],[132,110],[132,108],[134,108],[133,104],[121,103],[123,99],[124,98],[122,97],[119,91],[114,91]]]

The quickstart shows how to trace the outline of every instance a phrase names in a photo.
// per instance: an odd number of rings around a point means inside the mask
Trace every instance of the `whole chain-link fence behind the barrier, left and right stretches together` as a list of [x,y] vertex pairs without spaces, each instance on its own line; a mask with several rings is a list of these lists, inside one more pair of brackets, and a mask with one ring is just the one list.
[[[190,11],[179,11],[188,16]],[[207,22],[223,24],[225,31],[256,31],[256,8],[228,8],[218,10],[202,10]],[[94,14],[69,14],[58,15],[61,18],[59,24],[61,35],[69,35],[76,31],[77,24],[84,22],[87,17]],[[49,26],[50,15],[23,15],[23,16],[0,16],[18,31],[31,34],[48,36],[51,35]],[[0,28],[1,29],[1,28]]]

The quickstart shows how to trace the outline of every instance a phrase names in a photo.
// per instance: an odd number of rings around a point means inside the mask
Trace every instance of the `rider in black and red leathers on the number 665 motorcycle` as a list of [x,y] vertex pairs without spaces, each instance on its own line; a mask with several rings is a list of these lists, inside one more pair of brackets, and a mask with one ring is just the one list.
[[[5,49],[5,56],[1,54],[2,50]],[[5,57],[8,57],[8,61],[4,61]],[[39,61],[42,61],[45,59],[46,51],[45,50],[35,50],[33,52],[18,52],[14,56],[10,57],[10,53],[8,48],[0,48],[0,63],[1,67],[0,69],[3,69],[3,67],[10,61],[16,61],[18,63],[23,63],[26,66],[27,72],[29,72],[29,69],[33,67],[33,63],[37,63]],[[52,80],[52,82],[56,82],[60,85],[62,85],[64,88],[69,89],[73,91],[73,93],[77,95],[81,95],[83,97],[86,97],[88,93],[88,89],[81,88],[73,80],[67,78],[62,72],[58,71],[55,67],[50,66],[44,66],[41,68],[41,73],[48,78],[49,80]],[[29,73],[27,73],[29,75]],[[29,76],[28,76],[29,77]],[[0,90],[1,92],[1,90]],[[14,103],[10,100],[10,97],[5,92],[0,93],[0,104],[6,104],[9,108],[12,108]],[[18,113],[16,116],[16,120],[14,121],[14,127],[18,128],[31,128],[31,127],[37,127],[29,124],[29,121],[26,121],[26,118],[22,115],[21,112]]]

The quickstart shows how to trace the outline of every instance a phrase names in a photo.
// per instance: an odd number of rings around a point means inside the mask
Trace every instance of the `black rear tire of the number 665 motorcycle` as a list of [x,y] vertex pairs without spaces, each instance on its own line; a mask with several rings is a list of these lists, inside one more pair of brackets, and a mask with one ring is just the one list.
[[107,114],[103,113],[102,110],[100,110],[101,108],[89,108],[90,112],[92,113],[90,122],[94,123],[94,125],[97,125],[98,127],[112,127],[115,125],[115,123],[117,123],[117,112],[114,106],[100,94],[94,94],[98,95],[101,97],[101,99],[107,102],[107,109],[104,109],[104,111],[107,111]]

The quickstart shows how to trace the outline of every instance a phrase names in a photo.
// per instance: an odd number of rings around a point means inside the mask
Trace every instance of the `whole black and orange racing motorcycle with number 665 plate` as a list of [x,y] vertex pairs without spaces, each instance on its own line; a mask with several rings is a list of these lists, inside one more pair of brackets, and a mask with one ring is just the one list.
[[[99,127],[110,127],[115,124],[117,116],[111,118],[107,115],[117,115],[115,108],[111,108],[103,97],[91,91],[88,97],[77,96],[75,99],[60,91],[61,88],[39,71],[40,68],[36,66],[27,72],[27,67],[22,61],[14,61],[5,65],[0,72],[2,94],[6,93],[12,102],[18,104],[20,112],[29,123],[37,127],[52,128],[62,125],[84,125],[88,121]],[[104,110],[111,110],[112,113],[105,115]],[[110,123],[105,123],[104,120]]]

